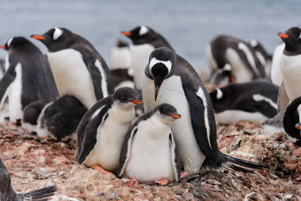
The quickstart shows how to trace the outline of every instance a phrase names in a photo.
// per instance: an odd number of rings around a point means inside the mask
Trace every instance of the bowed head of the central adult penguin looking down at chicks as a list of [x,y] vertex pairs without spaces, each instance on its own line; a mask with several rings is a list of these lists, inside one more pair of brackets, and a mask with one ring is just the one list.
[[173,72],[176,60],[176,54],[167,47],[157,48],[150,53],[148,69],[154,79],[155,100],[164,79]]

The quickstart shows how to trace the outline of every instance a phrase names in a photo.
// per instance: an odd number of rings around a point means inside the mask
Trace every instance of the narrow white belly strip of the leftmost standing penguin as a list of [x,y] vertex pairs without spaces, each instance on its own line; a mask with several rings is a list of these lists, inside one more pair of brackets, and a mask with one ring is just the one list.
[[16,70],[16,78],[11,83],[8,91],[9,96],[9,113],[10,113],[10,121],[16,121],[17,119],[22,119],[22,65],[18,63],[15,67]]

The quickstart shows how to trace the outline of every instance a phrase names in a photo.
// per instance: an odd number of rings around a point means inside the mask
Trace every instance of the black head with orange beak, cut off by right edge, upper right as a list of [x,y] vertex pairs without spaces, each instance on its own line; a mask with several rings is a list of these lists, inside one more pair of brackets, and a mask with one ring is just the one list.
[[279,32],[278,36],[285,43],[285,50],[288,52],[301,51],[301,27],[292,27],[284,33]]

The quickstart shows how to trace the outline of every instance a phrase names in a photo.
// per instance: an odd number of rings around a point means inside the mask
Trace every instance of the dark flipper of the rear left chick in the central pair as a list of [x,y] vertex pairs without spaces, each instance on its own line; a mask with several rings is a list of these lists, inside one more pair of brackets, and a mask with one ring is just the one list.
[[[98,128],[108,118],[109,106],[103,106],[100,109],[89,111],[90,115],[84,116],[77,128],[78,141],[77,162],[82,164],[90,155],[97,144]],[[91,108],[94,109],[94,106]],[[91,115],[91,112],[94,113]],[[98,114],[97,114],[98,113]],[[90,117],[91,116],[91,117]]]

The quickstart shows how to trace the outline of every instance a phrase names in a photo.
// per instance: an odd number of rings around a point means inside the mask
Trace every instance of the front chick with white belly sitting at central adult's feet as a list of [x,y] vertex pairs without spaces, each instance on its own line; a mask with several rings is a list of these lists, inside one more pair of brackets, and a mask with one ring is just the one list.
[[125,136],[117,176],[161,185],[178,182],[180,158],[171,126],[180,118],[169,104],[140,117]]

